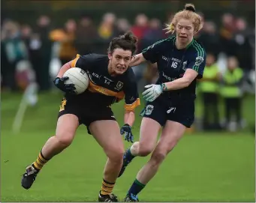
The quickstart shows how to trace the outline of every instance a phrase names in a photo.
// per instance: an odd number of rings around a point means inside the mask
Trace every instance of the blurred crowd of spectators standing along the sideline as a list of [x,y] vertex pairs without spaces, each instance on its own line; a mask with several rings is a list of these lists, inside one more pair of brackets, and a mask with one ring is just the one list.
[[[170,22],[172,17],[166,22]],[[71,61],[77,53],[107,53],[110,40],[128,30],[139,39],[137,52],[170,37],[164,33],[164,22],[157,18],[149,19],[145,13],[140,13],[133,21],[119,19],[114,13],[105,13],[98,25],[89,16],[83,16],[79,21],[67,18],[65,25],[53,25],[50,17],[44,15],[38,17],[35,26],[4,19],[1,33],[2,91],[23,90],[31,80],[38,84],[39,91],[49,91],[53,87],[53,77],[62,64]],[[212,22],[204,16],[203,21],[203,29],[196,36],[207,52],[203,79],[198,82],[197,88],[204,104],[203,129],[225,127],[232,130],[234,122],[235,129],[242,127],[245,86],[247,91],[254,92],[251,88],[254,87],[255,28],[248,27],[246,19],[230,13],[224,13],[220,22]],[[219,23],[221,25],[217,26]],[[158,78],[155,64],[144,64],[133,69],[139,88]],[[223,126],[218,113],[220,97],[225,106]]]

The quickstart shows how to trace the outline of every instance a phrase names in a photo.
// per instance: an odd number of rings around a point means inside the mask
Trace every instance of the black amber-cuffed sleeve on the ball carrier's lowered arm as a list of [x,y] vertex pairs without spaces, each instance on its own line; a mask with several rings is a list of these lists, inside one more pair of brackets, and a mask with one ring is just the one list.
[[134,110],[140,105],[140,97],[137,91],[137,81],[134,71],[130,68],[125,80],[124,93],[125,93],[125,110]]

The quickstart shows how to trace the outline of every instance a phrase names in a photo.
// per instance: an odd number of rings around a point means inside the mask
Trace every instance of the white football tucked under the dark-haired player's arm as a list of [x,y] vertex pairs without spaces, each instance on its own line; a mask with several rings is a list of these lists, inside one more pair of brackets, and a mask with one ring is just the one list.
[[74,84],[76,94],[81,94],[88,88],[89,76],[80,67],[71,67],[64,73],[63,77],[65,76],[68,76],[65,84]]

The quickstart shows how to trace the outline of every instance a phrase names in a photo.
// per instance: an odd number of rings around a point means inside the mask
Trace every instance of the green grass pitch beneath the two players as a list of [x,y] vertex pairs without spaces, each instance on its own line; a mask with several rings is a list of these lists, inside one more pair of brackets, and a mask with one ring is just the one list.
[[[44,142],[55,133],[61,97],[59,94],[41,94],[38,105],[27,110],[21,133],[14,135],[11,125],[20,94],[2,94],[2,202],[97,201],[107,158],[83,126],[77,131],[71,147],[44,166],[30,190],[24,190],[20,185],[26,166],[36,159]],[[198,103],[197,115],[200,115]],[[254,98],[244,103],[249,124],[255,121],[254,104]],[[123,103],[117,103],[113,107],[120,125],[123,124],[122,106]],[[137,109],[137,115],[140,109]],[[135,140],[138,139],[140,119],[137,116],[134,125]],[[142,202],[254,202],[254,143],[254,135],[248,130],[187,133],[140,193],[139,199]],[[125,147],[129,145],[125,143]],[[148,159],[138,157],[118,179],[114,193],[120,200]]]

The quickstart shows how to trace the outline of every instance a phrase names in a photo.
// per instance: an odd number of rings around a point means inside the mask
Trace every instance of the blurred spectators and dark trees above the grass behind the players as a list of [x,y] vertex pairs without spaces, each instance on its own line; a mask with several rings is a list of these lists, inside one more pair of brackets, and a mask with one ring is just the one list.
[[[163,31],[164,24],[170,23],[173,14],[185,3],[2,1],[2,91],[24,91],[33,81],[39,93],[52,91],[53,79],[62,64],[77,53],[106,54],[110,40],[128,30],[139,38],[140,52],[157,40],[170,37]],[[254,1],[193,3],[204,22],[195,38],[203,43],[208,54],[204,79],[197,88],[197,103],[202,107],[195,123],[197,129],[244,128],[248,119],[243,116],[243,101],[254,94]],[[140,91],[143,85],[158,78],[155,64],[133,69]],[[250,105],[254,108],[254,101]]]

